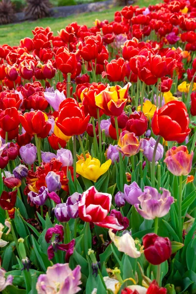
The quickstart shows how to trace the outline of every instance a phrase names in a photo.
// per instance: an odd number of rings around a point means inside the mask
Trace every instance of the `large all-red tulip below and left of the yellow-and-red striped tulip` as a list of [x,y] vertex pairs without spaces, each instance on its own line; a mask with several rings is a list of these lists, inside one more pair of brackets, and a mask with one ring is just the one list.
[[66,136],[80,135],[86,131],[89,115],[85,115],[82,108],[73,98],[67,98],[59,105],[59,115],[56,125]]

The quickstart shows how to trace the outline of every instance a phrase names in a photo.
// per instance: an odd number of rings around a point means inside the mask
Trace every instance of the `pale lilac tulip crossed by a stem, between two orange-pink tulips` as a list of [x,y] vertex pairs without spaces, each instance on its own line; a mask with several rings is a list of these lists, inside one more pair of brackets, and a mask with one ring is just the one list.
[[[156,143],[156,140],[152,137],[149,140],[146,140],[146,139],[141,140],[141,148],[143,149],[144,156],[146,156],[147,160],[149,160],[150,162],[152,162],[152,156],[153,156],[155,143]],[[157,162],[163,157],[163,153],[164,153],[164,148],[159,143],[156,150],[155,162]]]

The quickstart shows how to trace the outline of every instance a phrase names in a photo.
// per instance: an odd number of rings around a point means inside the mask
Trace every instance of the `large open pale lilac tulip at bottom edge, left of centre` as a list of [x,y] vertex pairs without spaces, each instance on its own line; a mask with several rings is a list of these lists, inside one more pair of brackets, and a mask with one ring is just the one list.
[[[48,267],[46,274],[38,277],[36,290],[38,294],[58,293],[75,294],[81,289],[81,267],[71,270],[69,264],[55,264]],[[58,290],[57,290],[58,287]]]

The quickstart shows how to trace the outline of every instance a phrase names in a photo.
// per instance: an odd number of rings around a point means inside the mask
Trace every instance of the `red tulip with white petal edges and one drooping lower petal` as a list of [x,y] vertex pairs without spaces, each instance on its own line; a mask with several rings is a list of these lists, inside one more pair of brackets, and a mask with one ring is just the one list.
[[117,218],[107,216],[110,211],[112,196],[107,193],[99,193],[94,186],[90,187],[81,196],[78,203],[78,215],[83,221],[94,222],[96,225],[115,230],[122,230]]

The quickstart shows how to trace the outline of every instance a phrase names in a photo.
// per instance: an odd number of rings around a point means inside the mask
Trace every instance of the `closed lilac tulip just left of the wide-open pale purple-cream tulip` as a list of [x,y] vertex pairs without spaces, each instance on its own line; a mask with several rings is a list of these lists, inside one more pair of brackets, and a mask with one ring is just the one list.
[[140,189],[136,182],[133,182],[130,185],[124,185],[124,198],[131,205],[140,203],[138,197],[141,196],[142,193],[142,189]]

